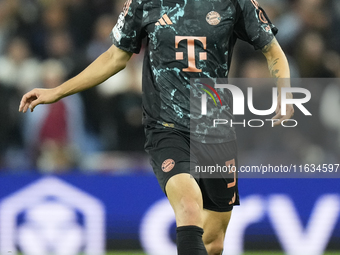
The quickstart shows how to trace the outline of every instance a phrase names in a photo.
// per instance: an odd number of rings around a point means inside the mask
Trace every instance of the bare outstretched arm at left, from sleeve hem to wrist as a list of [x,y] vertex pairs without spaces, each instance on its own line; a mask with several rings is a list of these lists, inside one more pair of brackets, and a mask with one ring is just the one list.
[[131,54],[121,50],[109,49],[101,54],[86,69],[55,88],[57,97],[63,98],[92,88],[124,69]]

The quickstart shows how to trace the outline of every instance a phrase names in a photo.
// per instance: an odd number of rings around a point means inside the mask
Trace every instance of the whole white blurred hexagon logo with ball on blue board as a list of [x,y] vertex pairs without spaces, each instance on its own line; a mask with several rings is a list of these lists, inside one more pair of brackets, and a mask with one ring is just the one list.
[[[76,211],[83,216],[82,225]],[[24,212],[26,222],[18,226]],[[0,254],[16,255],[18,245],[28,255],[103,255],[104,205],[56,177],[42,178],[1,200]]]

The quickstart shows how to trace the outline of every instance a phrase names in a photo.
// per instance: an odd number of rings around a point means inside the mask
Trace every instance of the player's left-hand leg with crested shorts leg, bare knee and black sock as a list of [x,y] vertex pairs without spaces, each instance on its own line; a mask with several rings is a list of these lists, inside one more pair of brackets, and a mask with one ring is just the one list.
[[171,129],[147,130],[146,151],[177,223],[178,255],[208,255],[203,244],[203,201],[190,175],[190,142]]

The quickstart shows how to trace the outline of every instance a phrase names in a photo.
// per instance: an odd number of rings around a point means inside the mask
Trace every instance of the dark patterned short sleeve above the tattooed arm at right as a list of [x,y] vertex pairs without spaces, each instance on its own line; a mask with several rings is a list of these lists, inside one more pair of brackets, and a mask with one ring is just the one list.
[[262,49],[273,40],[278,29],[270,22],[256,0],[237,2],[234,33],[237,38],[249,42],[255,49]]

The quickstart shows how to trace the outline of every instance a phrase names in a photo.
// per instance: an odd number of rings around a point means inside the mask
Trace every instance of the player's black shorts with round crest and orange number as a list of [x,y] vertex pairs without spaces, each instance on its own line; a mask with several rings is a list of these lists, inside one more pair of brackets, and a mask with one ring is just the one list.
[[[236,141],[220,144],[194,142],[188,135],[172,128],[147,127],[145,134],[145,150],[151,156],[153,171],[165,194],[165,185],[172,176],[189,173],[201,189],[205,209],[227,212],[240,204],[235,171]],[[232,170],[226,174],[222,171],[223,166]],[[207,171],[209,167],[214,169],[213,173]]]

